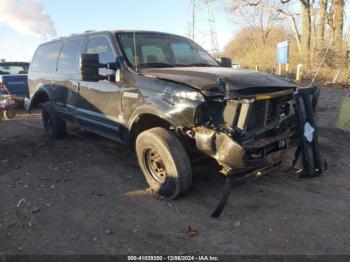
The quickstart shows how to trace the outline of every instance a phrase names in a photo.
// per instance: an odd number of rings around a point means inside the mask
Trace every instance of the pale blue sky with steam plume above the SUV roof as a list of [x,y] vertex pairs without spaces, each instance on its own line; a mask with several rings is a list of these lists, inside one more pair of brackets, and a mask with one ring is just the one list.
[[[86,30],[142,29],[186,36],[189,0],[1,0],[0,58],[30,61],[35,48],[55,37]],[[234,35],[223,6],[214,15],[220,48]],[[210,49],[207,9],[199,8],[196,41]]]

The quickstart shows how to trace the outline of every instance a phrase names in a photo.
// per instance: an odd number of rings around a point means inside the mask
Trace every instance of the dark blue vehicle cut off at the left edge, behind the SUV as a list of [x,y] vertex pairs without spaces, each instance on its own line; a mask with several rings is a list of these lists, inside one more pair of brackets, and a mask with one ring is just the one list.
[[29,97],[28,68],[26,62],[0,63],[0,85],[5,85],[13,99],[23,101]]

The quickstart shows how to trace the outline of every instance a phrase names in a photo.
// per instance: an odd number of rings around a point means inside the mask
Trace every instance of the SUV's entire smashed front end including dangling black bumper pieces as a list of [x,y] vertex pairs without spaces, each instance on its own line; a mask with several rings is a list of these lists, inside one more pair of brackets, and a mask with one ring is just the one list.
[[[193,129],[197,149],[215,158],[227,178],[213,217],[223,211],[233,185],[269,173],[292,148],[293,164],[303,156],[304,177],[321,175],[314,121],[317,95],[317,88],[235,93],[198,109],[197,121],[202,124]],[[311,140],[304,136],[306,125],[313,128]]]

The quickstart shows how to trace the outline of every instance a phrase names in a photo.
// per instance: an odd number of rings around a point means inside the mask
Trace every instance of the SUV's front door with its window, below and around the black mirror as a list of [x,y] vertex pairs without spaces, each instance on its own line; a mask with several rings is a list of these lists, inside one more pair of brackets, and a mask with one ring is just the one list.
[[[89,36],[84,53],[99,54],[100,63],[116,63],[117,50],[108,34]],[[101,76],[115,71],[101,68]],[[121,140],[121,87],[115,82],[80,82],[77,119],[84,128],[114,140]]]

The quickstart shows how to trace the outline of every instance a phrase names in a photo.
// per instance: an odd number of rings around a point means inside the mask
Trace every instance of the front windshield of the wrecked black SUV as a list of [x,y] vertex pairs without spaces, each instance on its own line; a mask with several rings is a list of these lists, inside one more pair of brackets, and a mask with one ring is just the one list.
[[203,48],[184,37],[130,32],[117,33],[117,39],[132,67],[219,66]]

